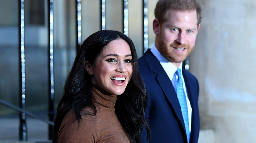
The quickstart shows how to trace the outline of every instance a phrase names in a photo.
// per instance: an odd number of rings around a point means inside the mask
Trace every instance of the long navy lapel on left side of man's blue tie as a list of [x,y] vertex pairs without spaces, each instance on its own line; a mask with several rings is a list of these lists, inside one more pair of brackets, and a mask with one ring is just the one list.
[[152,54],[150,49],[145,53],[144,57],[145,57],[145,60],[147,61],[147,64],[148,64],[150,70],[157,74],[156,80],[159,83],[160,87],[162,88],[169,103],[173,107],[176,116],[181,121],[181,124],[185,131],[185,124],[184,124],[184,120],[182,117],[181,107],[180,107],[179,100],[177,98],[177,94],[175,92],[175,89],[172,85],[171,80],[169,79],[168,75],[164,71],[160,62]]

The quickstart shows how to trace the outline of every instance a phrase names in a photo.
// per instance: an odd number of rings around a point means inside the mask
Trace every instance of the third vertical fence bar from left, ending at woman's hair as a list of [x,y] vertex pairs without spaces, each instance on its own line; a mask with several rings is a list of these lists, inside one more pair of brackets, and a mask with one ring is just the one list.
[[77,31],[77,39],[76,39],[76,52],[78,52],[78,49],[81,46],[82,43],[82,24],[81,24],[81,0],[76,1],[76,18],[77,18],[77,23],[76,23],[76,31]]

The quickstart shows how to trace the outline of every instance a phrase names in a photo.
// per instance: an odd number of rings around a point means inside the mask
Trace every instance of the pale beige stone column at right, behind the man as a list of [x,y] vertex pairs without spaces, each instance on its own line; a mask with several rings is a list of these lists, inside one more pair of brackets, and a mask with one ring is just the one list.
[[255,142],[256,1],[199,2],[203,20],[190,56],[200,84],[199,142]]

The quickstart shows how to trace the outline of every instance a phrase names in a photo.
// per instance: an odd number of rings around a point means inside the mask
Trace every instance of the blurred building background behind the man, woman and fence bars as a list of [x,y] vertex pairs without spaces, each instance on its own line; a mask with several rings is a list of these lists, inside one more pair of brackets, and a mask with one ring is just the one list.
[[[128,36],[138,57],[144,53],[143,0],[124,0]],[[124,31],[122,0],[106,0],[105,28]],[[146,0],[148,43],[157,0]],[[256,140],[256,1],[198,0],[203,19],[189,71],[200,85],[199,143],[241,143]],[[76,1],[53,0],[54,110],[76,56]],[[0,0],[0,100],[19,105],[20,14],[18,0]],[[24,0],[26,111],[48,119],[49,56],[47,0]],[[145,21],[146,22],[146,21]],[[101,30],[101,1],[81,0],[81,40]],[[27,140],[49,141],[48,124],[27,117]],[[19,113],[0,104],[0,142],[19,140]]]

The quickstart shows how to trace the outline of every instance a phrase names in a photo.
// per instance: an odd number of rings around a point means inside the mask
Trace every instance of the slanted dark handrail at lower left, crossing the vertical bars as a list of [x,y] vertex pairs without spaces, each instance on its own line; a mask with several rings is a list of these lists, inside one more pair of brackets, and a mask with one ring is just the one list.
[[14,106],[14,105],[12,105],[12,104],[10,104],[10,103],[4,101],[4,100],[0,100],[0,104],[5,105],[5,106],[7,106],[7,107],[9,107],[9,108],[12,108],[12,109],[14,109],[14,110],[16,110],[16,111],[19,111],[20,113],[25,113],[27,116],[30,116],[30,117],[32,117],[32,118],[34,118],[34,119],[38,119],[38,120],[40,120],[40,121],[42,121],[42,122],[45,122],[45,123],[47,123],[47,124],[54,125],[53,122],[51,122],[51,121],[49,121],[49,120],[47,120],[47,119],[44,119],[44,118],[42,118],[42,117],[39,117],[39,116],[37,116],[37,115],[35,115],[35,114],[32,114],[32,113],[30,113],[30,112],[28,112],[28,111],[26,111],[26,110],[23,110],[23,109],[21,109],[21,108],[19,108],[19,107],[17,107],[17,106]]

